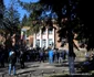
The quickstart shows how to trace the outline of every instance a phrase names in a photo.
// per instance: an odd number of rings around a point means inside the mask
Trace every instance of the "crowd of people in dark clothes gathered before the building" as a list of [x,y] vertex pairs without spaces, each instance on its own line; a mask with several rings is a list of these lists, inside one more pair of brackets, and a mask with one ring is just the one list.
[[51,47],[48,50],[44,48],[31,48],[28,50],[25,47],[21,47],[14,50],[11,47],[7,50],[4,46],[0,45],[0,64],[1,67],[4,67],[4,64],[9,64],[9,75],[11,75],[11,69],[13,68],[13,75],[15,75],[15,64],[19,63],[21,68],[24,68],[25,62],[40,62],[45,63],[61,63],[65,59],[65,51],[64,50],[52,50]]

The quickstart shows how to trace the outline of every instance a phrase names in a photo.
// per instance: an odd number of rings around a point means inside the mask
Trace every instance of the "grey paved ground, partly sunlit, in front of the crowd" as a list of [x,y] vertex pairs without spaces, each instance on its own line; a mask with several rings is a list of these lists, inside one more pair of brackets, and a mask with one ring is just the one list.
[[[77,62],[82,62],[82,59],[75,59],[75,64],[77,64]],[[8,65],[6,65],[4,68],[0,68],[0,77],[42,77],[44,75],[61,74],[63,72],[69,72],[67,62],[63,64],[31,62],[25,63],[24,69],[21,69],[20,65],[17,64],[17,74],[19,74],[17,76],[9,76]]]

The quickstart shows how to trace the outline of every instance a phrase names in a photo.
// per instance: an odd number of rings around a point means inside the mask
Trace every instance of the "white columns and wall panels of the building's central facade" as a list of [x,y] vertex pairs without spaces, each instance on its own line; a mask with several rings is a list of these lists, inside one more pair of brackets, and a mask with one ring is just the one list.
[[40,30],[40,32],[36,34],[36,37],[35,37],[35,34],[34,34],[34,40],[33,40],[33,47],[35,47],[35,43],[36,43],[36,40],[40,40],[40,47],[43,47],[43,40],[45,40],[45,48],[49,47],[49,38],[52,40],[53,44],[54,44],[54,29],[53,29],[53,32],[52,34],[49,34],[49,31],[46,29],[45,31],[45,34],[42,34],[42,31]]

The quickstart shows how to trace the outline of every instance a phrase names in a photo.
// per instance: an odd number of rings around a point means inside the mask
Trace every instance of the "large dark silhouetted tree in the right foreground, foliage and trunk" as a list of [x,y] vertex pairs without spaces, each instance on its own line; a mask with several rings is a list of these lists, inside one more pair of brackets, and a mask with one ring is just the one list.
[[[94,38],[94,34],[93,34],[93,30],[92,26],[90,26],[90,21],[86,20],[84,13],[86,14],[91,14],[92,10],[92,2],[87,1],[91,6],[88,7],[87,2],[85,2],[84,7],[83,3],[85,1],[82,0],[39,0],[38,3],[35,4],[40,4],[40,9],[42,11],[40,11],[41,13],[46,11],[46,10],[51,10],[52,13],[56,13],[58,15],[58,23],[59,26],[61,28],[61,30],[59,31],[60,33],[60,37],[62,40],[63,35],[67,37],[69,41],[69,53],[70,53],[70,57],[73,59],[74,57],[74,52],[73,52],[73,38],[74,32],[77,32],[81,36],[81,38],[85,38],[87,42],[87,47],[94,47],[93,46],[93,38]],[[35,4],[31,4],[35,6]],[[90,8],[90,10],[85,10],[85,8]],[[35,7],[34,7],[35,8]],[[32,11],[33,9],[31,9]],[[91,12],[90,12],[91,11]],[[91,15],[92,16],[92,15]],[[90,18],[90,16],[88,16]],[[91,18],[90,18],[91,19]],[[63,31],[63,32],[62,32]],[[72,61],[74,62],[74,61]],[[74,67],[74,65],[72,65]],[[73,70],[71,73],[74,73],[74,69],[70,69]]]

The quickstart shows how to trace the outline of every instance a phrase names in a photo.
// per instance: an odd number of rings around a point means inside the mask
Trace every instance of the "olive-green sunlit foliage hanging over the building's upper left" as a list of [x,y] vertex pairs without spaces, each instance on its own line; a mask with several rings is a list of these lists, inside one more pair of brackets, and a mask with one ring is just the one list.
[[24,18],[22,19],[22,26],[30,26],[30,30],[28,30],[27,32],[28,35],[39,32],[41,24],[41,21],[38,19],[39,16],[39,11],[33,11],[30,13],[29,18],[24,15]]

